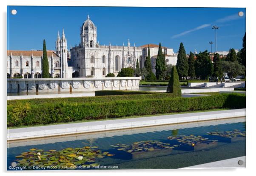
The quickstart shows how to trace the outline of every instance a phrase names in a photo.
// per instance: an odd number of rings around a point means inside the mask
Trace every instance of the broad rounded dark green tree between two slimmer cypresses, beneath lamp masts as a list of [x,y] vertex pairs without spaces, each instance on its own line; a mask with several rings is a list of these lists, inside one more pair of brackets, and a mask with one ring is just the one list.
[[195,71],[196,77],[201,77],[202,80],[213,74],[213,64],[207,50],[196,55]]

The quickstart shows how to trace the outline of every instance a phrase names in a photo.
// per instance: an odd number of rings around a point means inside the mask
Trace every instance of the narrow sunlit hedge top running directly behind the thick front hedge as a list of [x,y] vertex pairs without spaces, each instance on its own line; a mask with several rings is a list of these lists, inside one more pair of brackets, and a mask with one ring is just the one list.
[[24,99],[24,100],[8,100],[7,105],[11,104],[42,104],[42,103],[103,103],[103,102],[113,102],[117,100],[137,100],[137,99],[164,99],[176,97],[172,93],[157,93],[157,92],[147,92],[151,94],[138,94],[138,95],[114,95],[114,96],[85,96],[85,97],[70,97],[70,98],[51,98],[51,99]]

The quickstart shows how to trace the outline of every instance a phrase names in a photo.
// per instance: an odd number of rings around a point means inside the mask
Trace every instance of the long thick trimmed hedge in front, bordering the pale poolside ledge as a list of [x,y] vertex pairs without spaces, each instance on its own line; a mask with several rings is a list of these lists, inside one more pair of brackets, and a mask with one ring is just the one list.
[[7,126],[51,124],[83,119],[117,118],[217,108],[245,108],[244,94],[192,98],[122,100],[105,103],[43,103],[7,105]]

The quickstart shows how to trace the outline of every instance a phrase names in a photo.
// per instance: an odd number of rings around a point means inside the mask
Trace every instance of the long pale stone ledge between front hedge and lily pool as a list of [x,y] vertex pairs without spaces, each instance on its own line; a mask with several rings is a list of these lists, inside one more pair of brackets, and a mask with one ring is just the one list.
[[245,109],[207,111],[201,113],[179,113],[174,115],[157,115],[140,118],[124,118],[106,121],[35,126],[28,128],[7,129],[7,140],[20,140],[36,137],[70,135],[88,132],[100,132],[116,129],[128,129],[144,126],[178,124],[185,122],[216,120],[222,118],[245,116]]

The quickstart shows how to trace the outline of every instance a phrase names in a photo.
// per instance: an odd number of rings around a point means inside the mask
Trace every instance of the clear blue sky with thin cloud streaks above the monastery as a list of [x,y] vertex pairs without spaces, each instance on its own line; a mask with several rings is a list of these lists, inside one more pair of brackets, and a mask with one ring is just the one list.
[[[11,10],[17,14],[12,15]],[[243,11],[244,16],[238,12]],[[97,26],[100,44],[141,46],[159,44],[179,50],[183,42],[187,53],[241,49],[245,34],[245,8],[150,8],[150,7],[60,7],[60,6],[8,6],[7,49],[42,50],[46,39],[47,50],[55,50],[57,31],[64,28],[68,48],[80,42],[80,26],[87,19]]]

